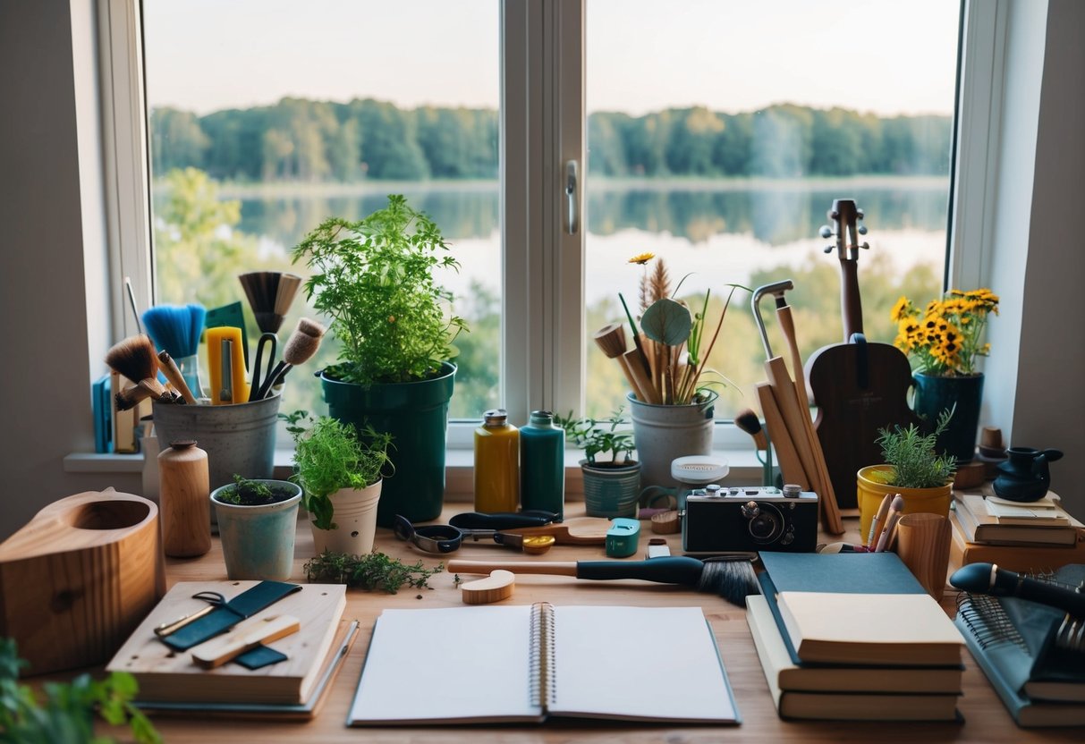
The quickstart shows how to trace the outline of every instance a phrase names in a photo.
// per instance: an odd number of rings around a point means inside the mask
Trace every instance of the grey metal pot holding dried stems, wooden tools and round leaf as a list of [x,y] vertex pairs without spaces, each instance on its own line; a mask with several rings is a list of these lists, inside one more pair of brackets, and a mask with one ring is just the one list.
[[[680,457],[710,454],[718,394],[712,385],[724,377],[712,370],[709,357],[719,337],[731,296],[739,285],[729,284],[718,319],[710,322],[711,291],[700,308],[690,310],[675,299],[682,282],[672,291],[663,259],[650,271],[655,256],[640,254],[630,264],[644,267],[640,279],[640,328],[625,308],[635,348],[626,355],[635,389],[626,397],[633,409],[633,433],[646,486],[674,486],[671,463]],[[685,281],[685,280],[682,280]],[[597,339],[598,341],[598,339]],[[607,351],[608,355],[611,351]]]

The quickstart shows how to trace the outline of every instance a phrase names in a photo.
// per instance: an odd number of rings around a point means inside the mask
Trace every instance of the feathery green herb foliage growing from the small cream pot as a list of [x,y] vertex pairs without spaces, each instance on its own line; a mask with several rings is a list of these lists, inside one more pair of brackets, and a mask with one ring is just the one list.
[[292,476],[304,491],[306,511],[318,529],[334,529],[331,496],[342,488],[366,488],[391,466],[392,435],[367,426],[360,436],[353,424],[329,416],[312,419],[306,411],[280,414],[294,437]]

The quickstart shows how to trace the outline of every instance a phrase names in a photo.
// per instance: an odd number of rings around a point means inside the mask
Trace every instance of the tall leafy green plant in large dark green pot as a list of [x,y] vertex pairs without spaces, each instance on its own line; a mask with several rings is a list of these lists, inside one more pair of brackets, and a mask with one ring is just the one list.
[[444,504],[452,341],[465,330],[435,269],[459,264],[436,223],[401,195],[361,220],[324,220],[291,252],[305,293],[330,319],[339,362],[321,373],[331,416],[391,434],[404,467],[388,478],[376,521],[436,518]]

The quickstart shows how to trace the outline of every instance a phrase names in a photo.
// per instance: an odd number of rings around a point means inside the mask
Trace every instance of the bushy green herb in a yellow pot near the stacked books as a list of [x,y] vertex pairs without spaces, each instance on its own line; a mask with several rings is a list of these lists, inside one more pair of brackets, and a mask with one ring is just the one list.
[[879,429],[883,464],[859,469],[856,476],[859,502],[859,535],[866,537],[870,522],[886,493],[904,497],[904,513],[949,513],[953,477],[957,459],[936,450],[939,436],[945,431],[954,411],[943,411],[933,432],[923,434],[918,426],[901,425]]

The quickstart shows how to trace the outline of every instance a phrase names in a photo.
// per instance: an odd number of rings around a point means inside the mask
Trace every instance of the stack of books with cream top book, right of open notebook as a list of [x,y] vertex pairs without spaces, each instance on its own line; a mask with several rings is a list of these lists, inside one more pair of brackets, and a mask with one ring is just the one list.
[[781,718],[959,718],[963,639],[895,553],[761,559],[746,620]]

